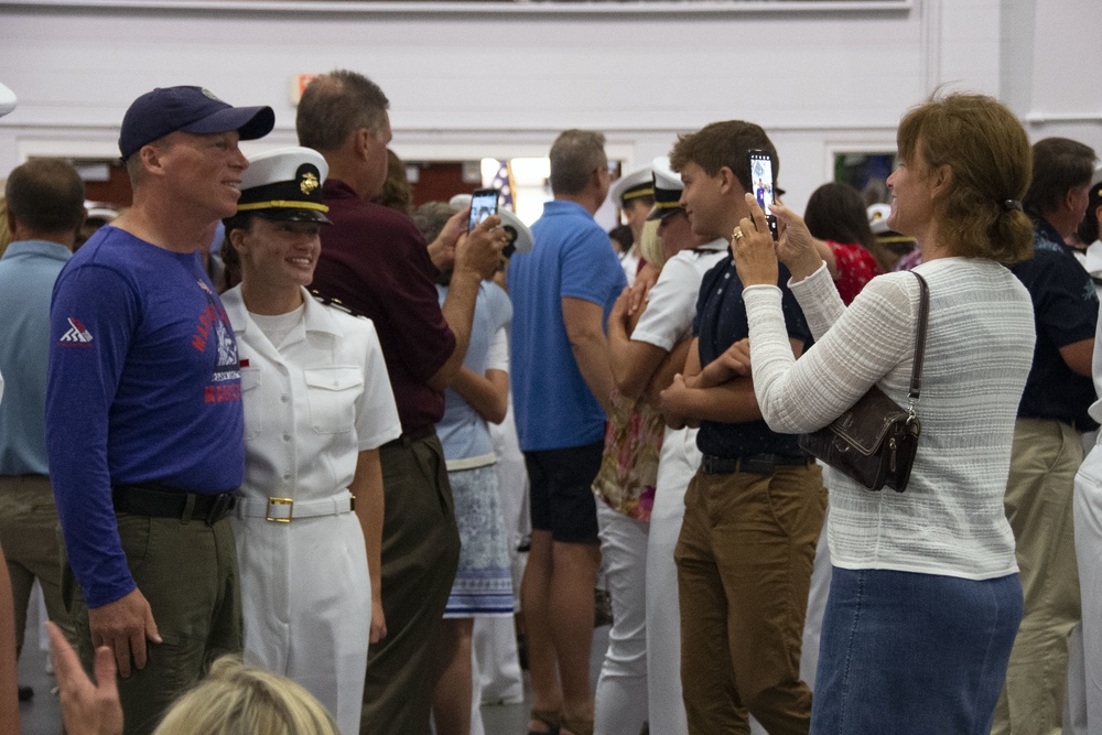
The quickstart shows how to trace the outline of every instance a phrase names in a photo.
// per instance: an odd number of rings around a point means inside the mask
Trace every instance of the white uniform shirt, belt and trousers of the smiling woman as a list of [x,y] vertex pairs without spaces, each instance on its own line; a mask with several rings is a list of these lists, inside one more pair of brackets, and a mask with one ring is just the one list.
[[[375,325],[303,289],[277,347],[223,298],[241,359],[246,467],[234,517],[245,659],[305,687],[359,732],[371,584],[348,486],[358,454],[401,434]],[[293,499],[289,505],[277,499]],[[287,517],[290,522],[267,520]]]

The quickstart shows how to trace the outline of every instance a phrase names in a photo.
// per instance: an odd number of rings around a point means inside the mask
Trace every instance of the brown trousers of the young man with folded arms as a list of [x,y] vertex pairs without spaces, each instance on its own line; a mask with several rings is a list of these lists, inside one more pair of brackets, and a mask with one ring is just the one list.
[[827,508],[818,465],[696,473],[674,551],[689,732],[806,734],[800,647]]

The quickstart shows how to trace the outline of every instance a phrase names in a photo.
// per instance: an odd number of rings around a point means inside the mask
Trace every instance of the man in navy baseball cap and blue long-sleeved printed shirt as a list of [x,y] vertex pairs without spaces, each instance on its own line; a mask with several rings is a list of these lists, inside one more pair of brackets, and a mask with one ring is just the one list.
[[72,612],[85,667],[111,651],[128,733],[241,647],[226,520],[245,466],[240,368],[197,248],[237,212],[238,141],[273,125],[271,108],[199,87],[136,99],[119,136],[133,206],[54,287],[46,443]]

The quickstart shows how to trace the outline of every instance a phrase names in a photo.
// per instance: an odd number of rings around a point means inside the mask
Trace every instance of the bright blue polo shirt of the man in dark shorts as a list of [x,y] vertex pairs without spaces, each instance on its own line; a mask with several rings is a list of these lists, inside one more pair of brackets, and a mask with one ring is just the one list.
[[601,441],[605,412],[577,369],[562,322],[562,299],[608,312],[627,287],[608,235],[574,202],[543,205],[531,252],[512,256],[512,398],[520,448],[560,450]]

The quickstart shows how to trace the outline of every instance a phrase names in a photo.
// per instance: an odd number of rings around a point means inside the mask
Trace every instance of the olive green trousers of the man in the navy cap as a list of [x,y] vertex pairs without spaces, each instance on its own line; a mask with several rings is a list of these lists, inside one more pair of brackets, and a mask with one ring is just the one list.
[[[148,660],[119,679],[125,732],[150,733],[165,710],[210,663],[241,651],[241,596],[229,519],[193,520],[117,514],[119,539],[138,588],[149,602],[164,642],[147,641]],[[79,640],[80,661],[93,670],[88,608],[68,573],[64,594]]]

